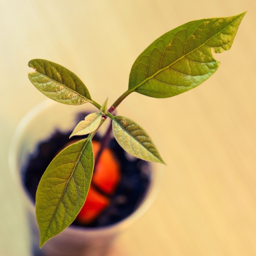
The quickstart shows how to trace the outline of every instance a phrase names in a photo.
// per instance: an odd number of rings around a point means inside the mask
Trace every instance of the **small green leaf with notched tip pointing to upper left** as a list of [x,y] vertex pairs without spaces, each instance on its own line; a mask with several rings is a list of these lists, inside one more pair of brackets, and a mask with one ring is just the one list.
[[29,80],[50,99],[69,105],[91,100],[83,82],[65,67],[42,59],[29,61],[29,67],[36,70],[28,74]]

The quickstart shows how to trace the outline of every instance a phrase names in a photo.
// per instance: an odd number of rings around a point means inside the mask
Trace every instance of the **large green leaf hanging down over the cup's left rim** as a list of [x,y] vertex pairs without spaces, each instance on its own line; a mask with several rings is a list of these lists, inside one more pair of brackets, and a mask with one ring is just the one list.
[[85,202],[93,168],[92,141],[86,139],[62,150],[47,167],[36,192],[40,247],[74,221]]

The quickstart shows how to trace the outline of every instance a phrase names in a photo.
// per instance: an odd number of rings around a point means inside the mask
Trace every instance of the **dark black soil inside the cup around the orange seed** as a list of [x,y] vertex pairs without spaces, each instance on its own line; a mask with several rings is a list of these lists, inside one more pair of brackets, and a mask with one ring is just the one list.
[[[27,166],[23,170],[25,173],[24,184],[32,200],[35,201],[36,189],[45,169],[56,153],[70,141],[71,132],[64,133],[56,130],[49,139],[39,142],[36,152],[28,157]],[[120,161],[121,181],[110,198],[110,205],[93,223],[86,225],[86,227],[103,227],[126,218],[135,211],[148,188],[150,164],[140,159],[128,157],[115,139],[110,140],[109,148],[113,150]],[[80,224],[74,221],[72,225]]]

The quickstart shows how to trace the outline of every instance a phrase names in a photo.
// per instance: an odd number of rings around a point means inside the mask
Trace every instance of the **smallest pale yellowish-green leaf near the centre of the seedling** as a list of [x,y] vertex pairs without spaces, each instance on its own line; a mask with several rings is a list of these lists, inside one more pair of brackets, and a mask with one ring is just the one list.
[[74,128],[70,138],[76,135],[86,135],[94,132],[101,123],[101,113],[91,113],[85,117],[83,121],[80,121]]

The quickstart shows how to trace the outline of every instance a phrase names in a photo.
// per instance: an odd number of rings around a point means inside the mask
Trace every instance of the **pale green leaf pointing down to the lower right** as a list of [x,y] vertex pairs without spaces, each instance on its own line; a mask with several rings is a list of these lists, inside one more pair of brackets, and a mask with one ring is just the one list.
[[116,116],[112,119],[112,129],[118,144],[130,155],[164,163],[149,135],[135,121]]

